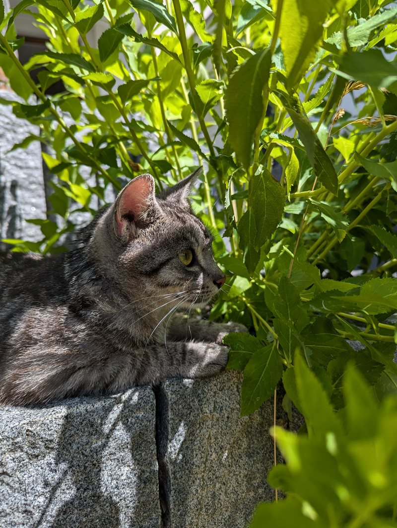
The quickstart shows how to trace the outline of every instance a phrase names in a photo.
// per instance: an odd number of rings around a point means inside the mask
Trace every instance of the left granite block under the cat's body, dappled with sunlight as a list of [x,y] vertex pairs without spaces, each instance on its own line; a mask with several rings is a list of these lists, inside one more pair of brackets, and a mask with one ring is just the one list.
[[0,410],[2,528],[161,526],[150,388]]

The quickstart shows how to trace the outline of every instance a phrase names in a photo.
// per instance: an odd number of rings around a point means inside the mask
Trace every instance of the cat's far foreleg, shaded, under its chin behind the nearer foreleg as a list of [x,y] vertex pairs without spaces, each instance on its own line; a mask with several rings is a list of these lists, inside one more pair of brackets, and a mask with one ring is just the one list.
[[168,336],[175,341],[204,341],[221,344],[225,335],[231,332],[247,332],[239,323],[215,323],[206,319],[186,319],[176,315],[169,325]]

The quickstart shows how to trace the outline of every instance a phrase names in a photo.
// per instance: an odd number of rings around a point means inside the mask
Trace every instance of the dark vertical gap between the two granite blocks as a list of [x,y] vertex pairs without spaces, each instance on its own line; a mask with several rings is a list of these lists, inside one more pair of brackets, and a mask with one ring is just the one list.
[[164,385],[153,387],[156,398],[156,452],[159,472],[159,501],[163,528],[171,528],[171,477],[166,455],[168,445],[168,398]]

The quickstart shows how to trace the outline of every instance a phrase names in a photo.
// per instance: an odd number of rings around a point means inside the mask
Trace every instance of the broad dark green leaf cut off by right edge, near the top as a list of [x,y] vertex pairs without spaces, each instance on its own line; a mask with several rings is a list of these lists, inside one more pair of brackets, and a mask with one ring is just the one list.
[[397,64],[385,59],[381,50],[348,51],[342,57],[336,73],[376,88],[390,88],[397,81]]

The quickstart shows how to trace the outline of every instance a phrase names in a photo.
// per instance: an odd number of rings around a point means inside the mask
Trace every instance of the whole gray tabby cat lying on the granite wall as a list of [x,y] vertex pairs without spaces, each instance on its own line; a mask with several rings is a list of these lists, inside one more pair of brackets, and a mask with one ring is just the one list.
[[157,197],[150,174],[134,178],[69,253],[0,260],[0,403],[112,394],[224,369],[222,338],[244,327],[193,320],[187,329],[168,317],[206,303],[225,282],[187,201],[198,172]]

